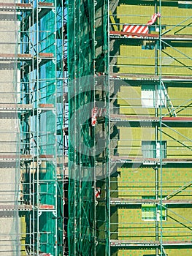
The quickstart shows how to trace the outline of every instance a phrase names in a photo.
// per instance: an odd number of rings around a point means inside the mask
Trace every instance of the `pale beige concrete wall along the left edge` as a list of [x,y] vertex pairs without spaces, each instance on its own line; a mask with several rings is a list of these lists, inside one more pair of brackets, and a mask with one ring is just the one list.
[[[2,1],[14,3],[14,1]],[[15,12],[0,12],[0,55],[15,54],[17,22]],[[0,61],[0,107],[16,102],[17,65],[14,60]],[[18,150],[18,113],[16,110],[0,110],[0,255],[20,255],[18,211],[7,211],[18,201],[20,172],[18,159],[3,159],[3,155],[15,155]]]

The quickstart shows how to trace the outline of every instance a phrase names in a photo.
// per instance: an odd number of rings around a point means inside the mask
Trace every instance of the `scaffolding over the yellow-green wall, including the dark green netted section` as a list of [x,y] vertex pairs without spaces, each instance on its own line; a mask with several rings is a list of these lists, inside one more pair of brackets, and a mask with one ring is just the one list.
[[69,1],[69,255],[191,255],[191,7]]

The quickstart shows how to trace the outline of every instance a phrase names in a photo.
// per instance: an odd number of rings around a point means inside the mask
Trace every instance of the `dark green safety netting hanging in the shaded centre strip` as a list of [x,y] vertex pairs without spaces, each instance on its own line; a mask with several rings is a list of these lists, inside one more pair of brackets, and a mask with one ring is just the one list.
[[[96,92],[97,74],[107,74],[107,1],[68,1],[69,90],[69,255],[109,255],[107,148],[96,153],[97,130],[91,126],[91,111],[103,96],[106,80]],[[105,83],[105,84],[104,84]],[[100,97],[99,99],[97,99]],[[102,124],[107,135],[107,119]],[[96,170],[104,176],[97,181]],[[101,168],[102,168],[101,167]],[[104,203],[96,206],[96,187],[104,191]],[[99,214],[100,212],[100,214]],[[97,222],[98,221],[98,222]]]

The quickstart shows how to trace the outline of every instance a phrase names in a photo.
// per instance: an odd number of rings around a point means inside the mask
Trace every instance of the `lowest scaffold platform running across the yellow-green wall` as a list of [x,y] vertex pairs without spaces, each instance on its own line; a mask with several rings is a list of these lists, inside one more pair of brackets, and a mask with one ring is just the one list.
[[[157,247],[160,246],[160,241],[129,241],[129,240],[110,240],[110,246],[118,247],[135,247],[135,246],[145,246],[145,247]],[[174,248],[175,246],[192,246],[192,241],[163,241],[162,245],[166,248]]]

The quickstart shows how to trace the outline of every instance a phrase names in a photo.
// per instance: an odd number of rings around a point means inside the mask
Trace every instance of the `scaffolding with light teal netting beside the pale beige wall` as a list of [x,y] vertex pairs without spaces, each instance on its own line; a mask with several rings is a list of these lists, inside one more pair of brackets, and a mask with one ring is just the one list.
[[0,54],[15,61],[17,78],[15,101],[1,105],[18,120],[17,154],[1,155],[17,166],[4,211],[17,212],[18,239],[7,255],[64,255],[63,1],[4,1],[0,10],[15,13],[17,38],[12,53]]

